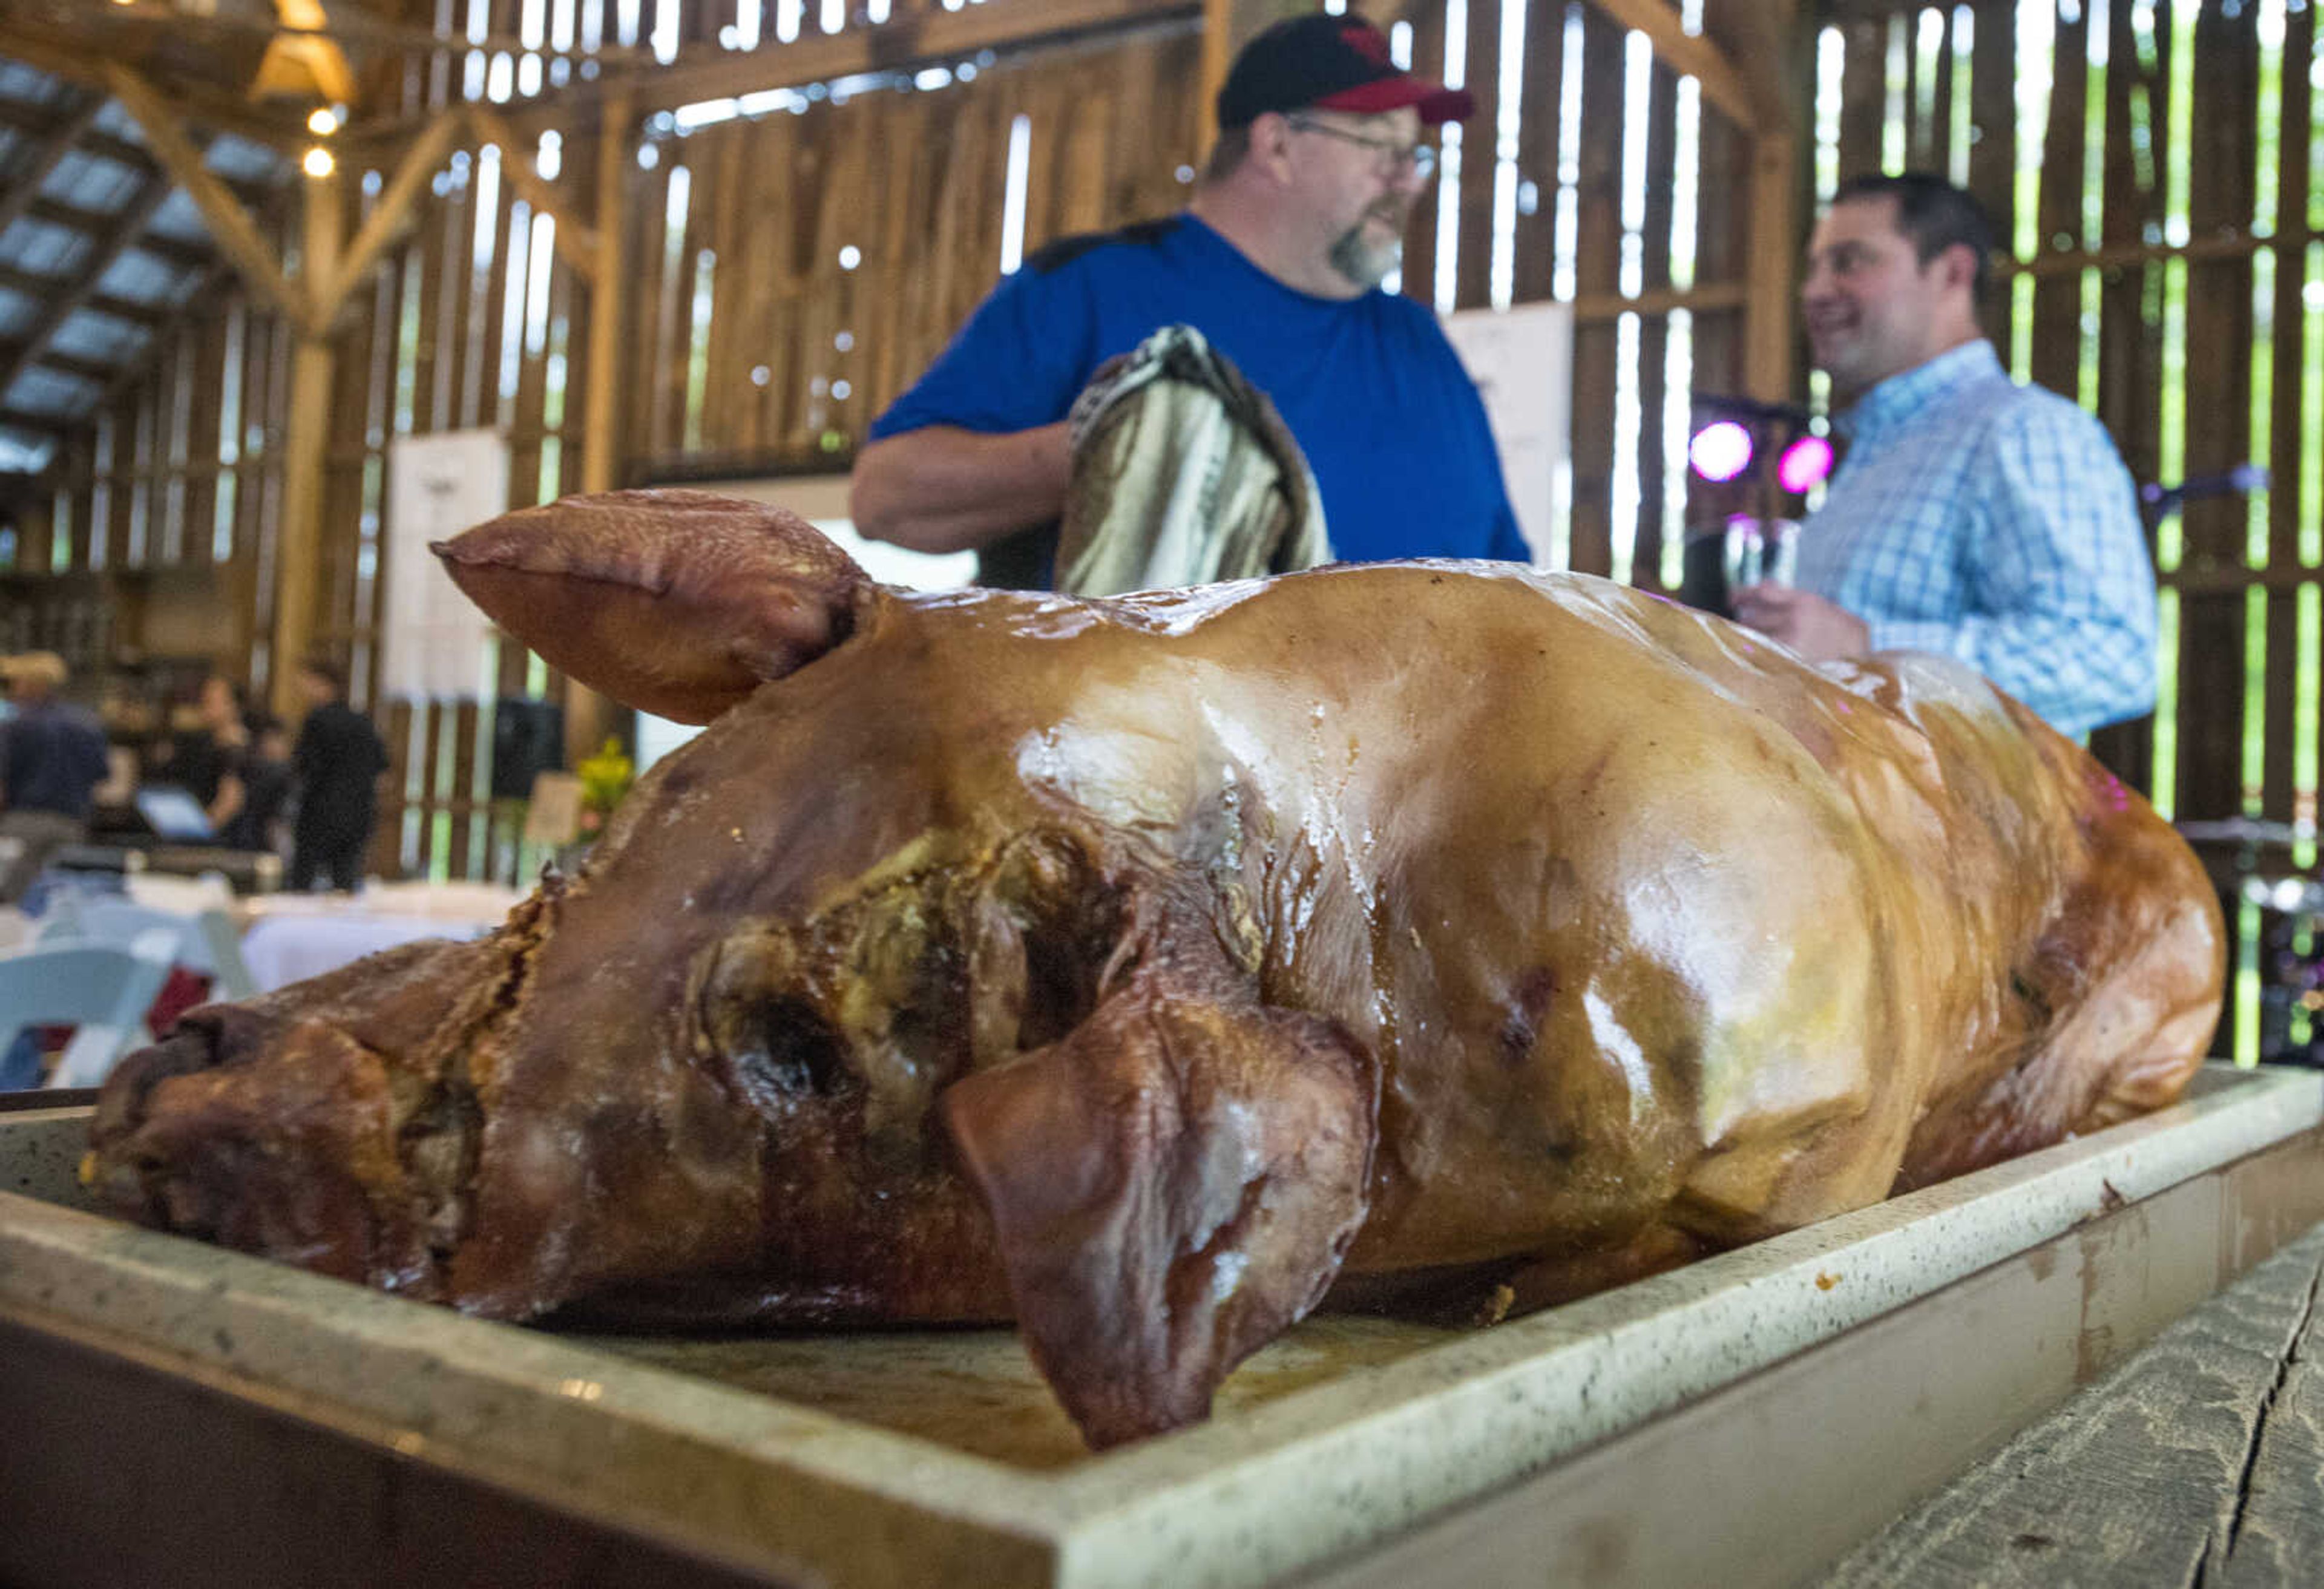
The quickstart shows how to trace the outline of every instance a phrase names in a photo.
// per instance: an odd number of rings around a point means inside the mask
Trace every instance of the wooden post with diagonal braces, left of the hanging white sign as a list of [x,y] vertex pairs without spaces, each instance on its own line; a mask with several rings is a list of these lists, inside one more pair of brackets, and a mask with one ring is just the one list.
[[[330,281],[339,267],[339,174],[307,177],[300,274]],[[274,648],[267,657],[274,711],[304,716],[297,664],[316,632],[323,599],[323,465],[330,446],[330,388],[337,355],[325,325],[302,325],[290,353],[290,420],[284,437],[284,516],[274,541]]]

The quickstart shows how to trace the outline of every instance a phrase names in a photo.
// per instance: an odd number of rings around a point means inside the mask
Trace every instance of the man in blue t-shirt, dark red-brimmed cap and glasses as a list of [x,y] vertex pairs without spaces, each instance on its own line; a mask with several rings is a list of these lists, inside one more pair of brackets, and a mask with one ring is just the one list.
[[1192,325],[1274,400],[1336,558],[1529,558],[1476,383],[1427,307],[1380,290],[1434,158],[1420,132],[1471,107],[1357,16],[1260,33],[1220,88],[1192,207],[1050,244],[1002,281],[871,425],[855,527],[978,548],[985,583],[1048,583],[1067,409],[1104,360]]

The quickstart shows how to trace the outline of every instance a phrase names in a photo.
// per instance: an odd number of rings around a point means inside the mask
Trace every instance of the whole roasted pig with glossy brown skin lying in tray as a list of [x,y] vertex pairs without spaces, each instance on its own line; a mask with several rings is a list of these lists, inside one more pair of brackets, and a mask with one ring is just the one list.
[[444,548],[713,722],[490,939],[128,1059],[116,1208],[507,1320],[1016,1320],[1111,1445],[1334,1282],[1608,1285],[2168,1103],[2217,1020],[2194,855],[1957,664],[1506,565],[911,595],[711,502]]

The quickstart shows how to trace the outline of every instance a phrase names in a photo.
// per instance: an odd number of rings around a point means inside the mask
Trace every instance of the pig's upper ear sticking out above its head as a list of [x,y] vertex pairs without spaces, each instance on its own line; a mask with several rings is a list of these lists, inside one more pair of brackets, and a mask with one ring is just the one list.
[[706,490],[611,490],[439,541],[493,623],[593,690],[709,722],[848,637],[871,588],[804,518]]

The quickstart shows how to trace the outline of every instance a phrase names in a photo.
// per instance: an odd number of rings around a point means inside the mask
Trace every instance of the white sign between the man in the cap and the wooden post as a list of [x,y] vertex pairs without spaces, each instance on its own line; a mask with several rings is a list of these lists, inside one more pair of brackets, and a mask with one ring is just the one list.
[[1443,328],[1485,400],[1518,530],[1534,562],[1562,567],[1557,483],[1573,420],[1573,307],[1462,309]]

